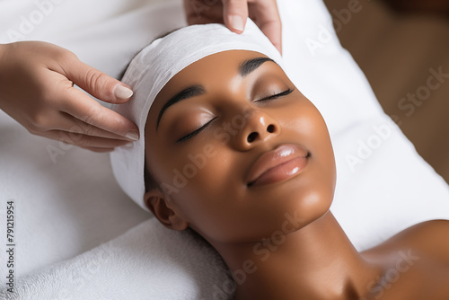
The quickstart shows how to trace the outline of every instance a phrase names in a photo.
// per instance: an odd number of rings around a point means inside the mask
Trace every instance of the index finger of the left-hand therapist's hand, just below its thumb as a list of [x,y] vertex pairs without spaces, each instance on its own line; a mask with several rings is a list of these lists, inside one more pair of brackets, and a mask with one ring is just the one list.
[[[94,128],[101,128],[130,140],[138,139],[138,128],[133,122],[113,110],[102,107],[100,103],[92,100],[82,91],[75,87],[69,88],[66,91],[66,97],[68,99],[63,102],[62,111]],[[93,132],[92,135],[94,135]]]

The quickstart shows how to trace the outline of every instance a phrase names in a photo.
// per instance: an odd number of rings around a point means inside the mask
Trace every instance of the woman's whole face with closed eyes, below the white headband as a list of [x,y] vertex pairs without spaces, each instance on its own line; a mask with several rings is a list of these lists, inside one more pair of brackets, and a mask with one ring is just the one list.
[[286,222],[298,229],[333,198],[320,112],[258,52],[220,52],[173,76],[148,114],[145,141],[167,207],[209,242],[259,240]]

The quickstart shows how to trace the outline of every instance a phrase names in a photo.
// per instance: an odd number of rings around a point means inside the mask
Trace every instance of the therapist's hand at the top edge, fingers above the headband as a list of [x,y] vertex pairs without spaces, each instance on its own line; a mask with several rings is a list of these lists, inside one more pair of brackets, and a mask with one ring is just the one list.
[[189,25],[220,22],[237,33],[242,33],[249,16],[282,53],[276,0],[184,0],[184,9]]

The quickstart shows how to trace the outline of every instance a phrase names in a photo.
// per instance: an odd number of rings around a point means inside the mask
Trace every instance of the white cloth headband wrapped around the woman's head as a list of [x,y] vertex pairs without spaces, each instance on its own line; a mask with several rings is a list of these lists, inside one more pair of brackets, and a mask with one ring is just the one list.
[[122,82],[134,91],[130,101],[115,105],[114,110],[136,123],[140,139],[133,146],[117,147],[110,154],[115,178],[121,188],[140,207],[145,207],[145,122],[154,98],[170,79],[183,68],[203,57],[226,50],[251,50],[275,60],[282,58],[257,25],[247,20],[242,34],[222,24],[193,25],[154,40],[128,66]]

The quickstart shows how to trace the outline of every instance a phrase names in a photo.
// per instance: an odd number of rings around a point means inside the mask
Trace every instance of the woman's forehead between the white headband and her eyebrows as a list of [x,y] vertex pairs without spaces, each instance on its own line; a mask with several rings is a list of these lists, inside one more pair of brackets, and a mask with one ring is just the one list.
[[249,50],[227,50],[199,59],[182,69],[163,86],[161,92],[154,99],[149,115],[161,110],[165,101],[190,85],[203,84],[207,86],[208,83],[216,84],[220,80],[238,75],[242,61],[254,57],[267,56]]

